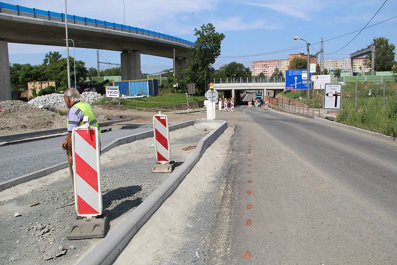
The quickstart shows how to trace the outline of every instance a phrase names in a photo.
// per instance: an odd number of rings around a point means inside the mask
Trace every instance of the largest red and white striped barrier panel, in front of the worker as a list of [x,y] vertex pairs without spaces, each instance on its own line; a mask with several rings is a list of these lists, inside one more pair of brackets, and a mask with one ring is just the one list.
[[98,128],[73,128],[74,205],[83,217],[102,214]]

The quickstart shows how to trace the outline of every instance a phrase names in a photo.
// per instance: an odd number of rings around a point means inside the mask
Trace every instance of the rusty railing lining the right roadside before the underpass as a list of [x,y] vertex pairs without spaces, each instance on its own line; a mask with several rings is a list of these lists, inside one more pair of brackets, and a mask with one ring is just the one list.
[[321,114],[321,101],[317,98],[311,99],[290,99],[286,97],[265,97],[270,106],[288,110],[293,113],[300,113],[309,116]]

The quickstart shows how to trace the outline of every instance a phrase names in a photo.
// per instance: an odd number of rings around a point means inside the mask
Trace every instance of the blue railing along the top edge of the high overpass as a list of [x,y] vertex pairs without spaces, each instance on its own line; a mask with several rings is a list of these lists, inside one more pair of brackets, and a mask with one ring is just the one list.
[[[54,11],[46,11],[37,8],[31,8],[21,5],[15,5],[10,3],[0,2],[0,13],[8,13],[14,14],[18,16],[27,16],[33,18],[47,19],[47,20],[55,20],[60,22],[65,22],[66,16],[65,13],[58,13]],[[109,22],[106,20],[93,19],[88,17],[76,16],[76,15],[67,15],[67,22],[72,24],[84,25],[84,26],[93,26],[97,28],[105,28],[112,30],[119,30],[123,32],[140,34],[143,36],[154,37],[163,40],[169,40],[176,43],[186,44],[190,46],[195,46],[194,42],[187,41],[178,37],[174,37],[171,35],[151,31],[148,29],[142,29],[138,27],[132,27],[128,25],[123,25],[115,22]]]

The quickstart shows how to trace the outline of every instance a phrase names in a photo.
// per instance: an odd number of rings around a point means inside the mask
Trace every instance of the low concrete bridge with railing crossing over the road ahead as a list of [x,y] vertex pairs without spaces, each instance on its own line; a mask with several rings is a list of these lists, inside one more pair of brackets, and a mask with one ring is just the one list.
[[226,80],[213,80],[214,89],[219,91],[219,95],[226,98],[235,98],[236,105],[242,103],[241,95],[245,95],[247,91],[255,90],[262,91],[262,93],[269,97],[275,97],[279,92],[284,91],[284,79],[268,79],[260,77],[252,78],[234,78]]

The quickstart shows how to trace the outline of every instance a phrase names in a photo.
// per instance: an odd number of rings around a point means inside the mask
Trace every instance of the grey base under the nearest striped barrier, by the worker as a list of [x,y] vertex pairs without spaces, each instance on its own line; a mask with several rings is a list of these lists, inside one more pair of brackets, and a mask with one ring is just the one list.
[[76,216],[70,223],[68,240],[105,237],[109,228],[108,213],[87,218]]

